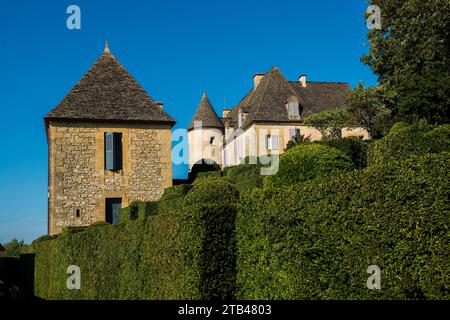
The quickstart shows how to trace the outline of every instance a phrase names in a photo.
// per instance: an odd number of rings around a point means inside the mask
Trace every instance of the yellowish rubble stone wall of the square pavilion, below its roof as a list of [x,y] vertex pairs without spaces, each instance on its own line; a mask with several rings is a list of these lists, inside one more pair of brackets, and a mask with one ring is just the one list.
[[[104,133],[121,132],[123,168],[104,170]],[[158,200],[172,185],[171,128],[51,122],[49,234],[105,220],[105,198]],[[77,210],[79,217],[77,217]]]

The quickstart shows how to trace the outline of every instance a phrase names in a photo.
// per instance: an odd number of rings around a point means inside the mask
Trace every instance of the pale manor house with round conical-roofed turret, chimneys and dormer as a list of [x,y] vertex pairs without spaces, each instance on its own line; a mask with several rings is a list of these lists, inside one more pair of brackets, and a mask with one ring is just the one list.
[[[304,117],[344,107],[350,90],[342,82],[307,82],[306,75],[288,81],[273,67],[256,74],[250,92],[232,109],[224,109],[222,118],[204,96],[189,127],[189,149],[196,150],[190,153],[189,169],[202,158],[226,167],[238,165],[247,156],[281,154],[298,133],[320,140],[321,132],[305,125]],[[340,135],[370,138],[363,127],[342,127]]]

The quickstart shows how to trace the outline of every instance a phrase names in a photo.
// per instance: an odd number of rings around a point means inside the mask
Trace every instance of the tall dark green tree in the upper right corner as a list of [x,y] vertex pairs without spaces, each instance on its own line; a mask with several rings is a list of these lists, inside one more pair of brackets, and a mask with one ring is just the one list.
[[448,112],[442,109],[449,107],[450,1],[368,2],[381,9],[381,29],[368,32],[370,51],[362,61],[398,98],[394,115],[407,121],[425,117],[431,123],[448,122]]

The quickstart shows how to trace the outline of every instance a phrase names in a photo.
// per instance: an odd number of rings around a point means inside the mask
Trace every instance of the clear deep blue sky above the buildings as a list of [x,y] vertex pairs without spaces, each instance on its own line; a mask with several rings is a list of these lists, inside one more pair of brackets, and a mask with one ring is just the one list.
[[[81,30],[66,9],[81,8]],[[47,231],[43,117],[110,41],[113,54],[176,120],[189,124],[207,90],[217,112],[234,106],[253,74],[376,83],[363,0],[2,1],[0,5],[0,242]],[[185,167],[174,168],[182,177]]]

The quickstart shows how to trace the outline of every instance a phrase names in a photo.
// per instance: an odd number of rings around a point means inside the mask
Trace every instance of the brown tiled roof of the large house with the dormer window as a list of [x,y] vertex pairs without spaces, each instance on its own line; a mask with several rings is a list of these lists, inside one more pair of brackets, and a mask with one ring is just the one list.
[[292,96],[300,103],[301,116],[343,107],[346,94],[350,91],[347,83],[308,82],[303,87],[299,82],[289,82],[280,70],[273,67],[260,80],[256,89],[252,89],[228,114],[230,126],[238,123],[238,113],[246,113],[243,127],[253,122],[299,122],[291,119],[286,103]]

